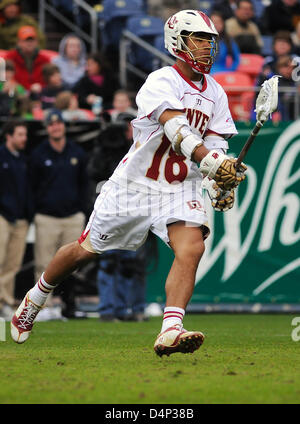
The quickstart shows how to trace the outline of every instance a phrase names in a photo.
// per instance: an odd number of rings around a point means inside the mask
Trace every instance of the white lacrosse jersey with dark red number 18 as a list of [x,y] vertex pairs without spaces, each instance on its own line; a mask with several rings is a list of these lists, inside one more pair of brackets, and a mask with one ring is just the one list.
[[227,95],[209,75],[204,75],[202,83],[192,82],[176,65],[163,67],[148,76],[136,103],[133,144],[110,179],[145,193],[149,189],[152,193],[179,191],[185,182],[202,180],[198,165],[176,154],[165,136],[158,119],[166,109],[185,112],[192,132],[202,138],[210,132],[224,137],[211,145],[205,142],[209,150],[227,149],[226,139],[237,134]]

